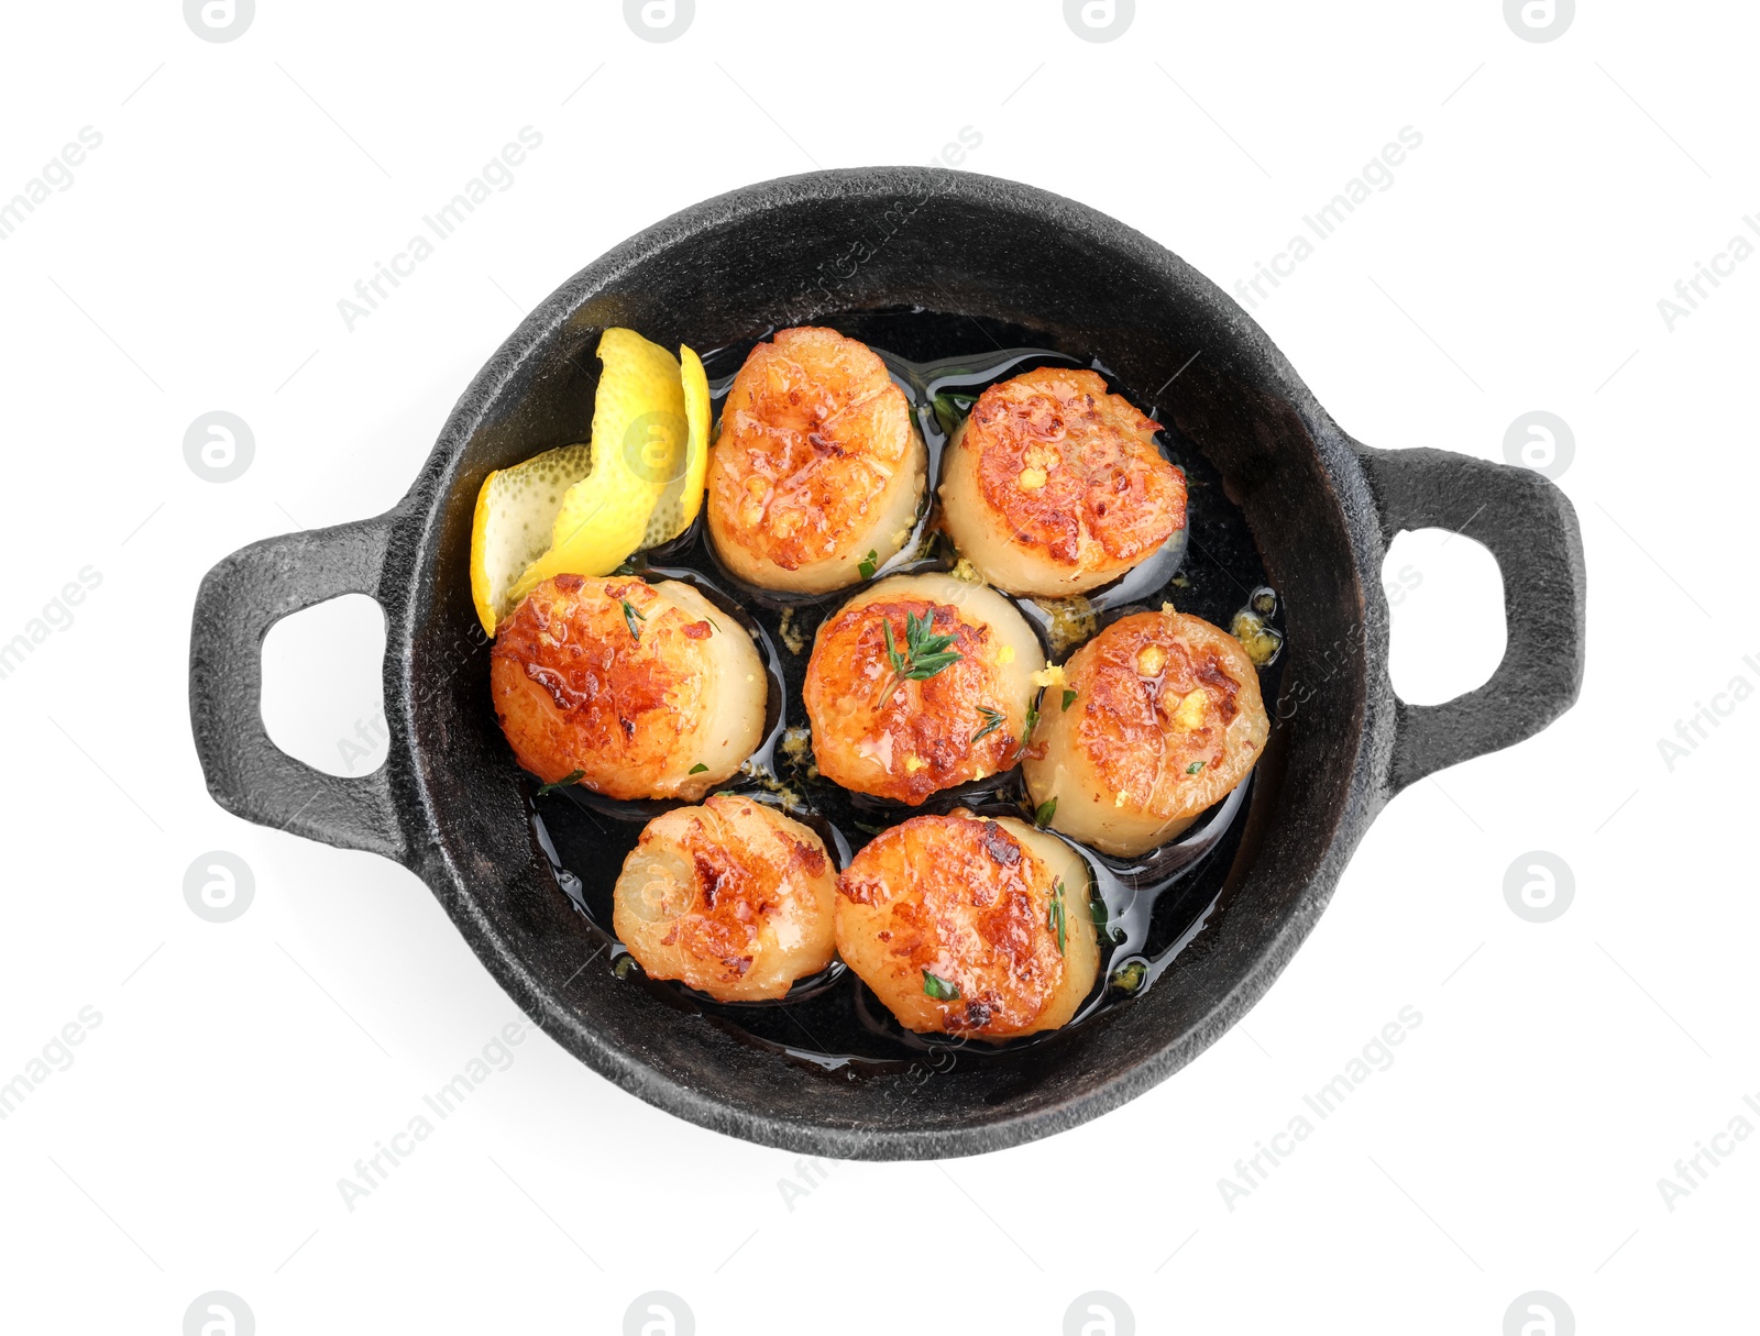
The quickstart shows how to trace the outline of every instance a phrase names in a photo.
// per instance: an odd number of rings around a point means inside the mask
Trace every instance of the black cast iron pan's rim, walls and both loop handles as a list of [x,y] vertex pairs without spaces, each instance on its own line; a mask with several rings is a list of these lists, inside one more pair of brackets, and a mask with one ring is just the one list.
[[[484,475],[584,440],[607,326],[706,349],[766,326],[919,306],[1030,333],[1158,385],[1163,421],[1220,470],[1276,586],[1288,635],[1272,746],[1255,774],[1223,903],[1177,972],[1003,1060],[864,1079],[695,1023],[583,970],[488,692],[470,600]],[[1197,359],[1193,356],[1197,354]],[[1503,572],[1508,650],[1443,706],[1387,678],[1380,570],[1399,530],[1470,532]],[[385,611],[391,755],[333,778],[262,727],[262,637],[343,593]],[[1346,437],[1239,306],[1146,236],[1068,199],[968,173],[827,171],[736,190],[625,241],[560,287],[489,359],[387,514],[245,547],[202,581],[190,716],[208,789],[232,813],[415,871],[465,940],[560,1044],[693,1123],[813,1155],[931,1158],[1000,1149],[1095,1118],[1234,1024],[1325,908],[1389,797],[1533,736],[1577,697],[1577,518],[1535,472]]]

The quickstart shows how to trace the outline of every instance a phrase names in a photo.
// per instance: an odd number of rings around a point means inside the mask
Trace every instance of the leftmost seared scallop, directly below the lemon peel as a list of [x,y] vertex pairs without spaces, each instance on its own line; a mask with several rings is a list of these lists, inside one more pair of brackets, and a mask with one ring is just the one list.
[[489,690],[546,783],[695,799],[757,748],[767,683],[752,637],[690,584],[556,576],[500,628]]

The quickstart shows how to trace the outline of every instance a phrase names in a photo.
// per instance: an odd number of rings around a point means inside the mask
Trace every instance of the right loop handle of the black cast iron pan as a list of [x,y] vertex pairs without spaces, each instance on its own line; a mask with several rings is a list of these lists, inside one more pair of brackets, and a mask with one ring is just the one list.
[[[1570,498],[1531,468],[1448,451],[1359,447],[1382,540],[1447,528],[1491,549],[1503,572],[1508,648],[1478,690],[1440,706],[1396,701],[1389,794],[1533,738],[1582,686],[1588,577]],[[1376,572],[1380,593],[1380,572]]]

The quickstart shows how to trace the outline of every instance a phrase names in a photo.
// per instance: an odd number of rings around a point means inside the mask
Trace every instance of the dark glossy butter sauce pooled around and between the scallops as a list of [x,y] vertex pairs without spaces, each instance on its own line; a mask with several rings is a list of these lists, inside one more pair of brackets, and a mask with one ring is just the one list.
[[[885,361],[894,384],[910,400],[929,451],[931,486],[919,507],[912,537],[873,579],[954,569],[957,554],[936,528],[933,484],[940,477],[949,429],[986,385],[1035,366],[1091,366],[1114,393],[1158,417],[1155,405],[1121,385],[1118,377],[1095,361],[1082,363],[1049,349],[1003,347],[1007,336],[1019,338],[1026,331],[922,310],[848,315],[827,324],[862,340]],[[716,414],[746,352],[771,333],[704,354]],[[926,356],[936,349],[972,347],[982,340],[991,345],[982,352]],[[891,349],[905,349],[915,359]],[[1276,609],[1276,620],[1281,621],[1281,607],[1269,588],[1244,518],[1223,495],[1220,475],[1172,428],[1163,428],[1160,440],[1163,452],[1186,473],[1186,528],[1149,560],[1086,598],[1014,598],[1051,662],[1061,664],[1082,639],[1119,616],[1160,607],[1163,602],[1223,628],[1246,604],[1260,616],[1265,632],[1281,642],[1281,632],[1271,625],[1271,609]],[[664,547],[637,554],[630,569],[649,581],[679,579],[697,586],[752,635],[769,676],[764,741],[725,790],[774,804],[815,829],[838,870],[848,866],[854,852],[882,829],[922,813],[964,806],[980,815],[1033,818],[1019,766],[935,794],[917,808],[854,794],[818,776],[811,746],[801,745],[806,729],[801,683],[818,623],[836,613],[861,584],[829,595],[780,593],[743,584],[716,560],[700,514],[690,532]],[[1265,611],[1260,614],[1260,609]],[[1260,672],[1267,701],[1276,699],[1274,665],[1276,655],[1271,655]],[[1047,688],[1040,709],[1056,709],[1056,697],[1058,688]],[[1248,776],[1179,838],[1137,859],[1118,859],[1065,841],[1089,870],[1102,951],[1100,977],[1070,1024],[1003,1044],[905,1030],[841,961],[796,982],[788,996],[778,1002],[720,1003],[683,984],[651,980],[611,933],[612,887],[648,820],[678,803],[621,803],[574,785],[535,797],[532,826],[558,889],[584,917],[586,935],[604,949],[588,968],[609,968],[627,986],[646,987],[679,1012],[781,1056],[861,1079],[868,1072],[898,1072],[917,1063],[922,1054],[929,1054],[933,1065],[954,1049],[973,1060],[1001,1060],[1081,1030],[1095,1016],[1130,1005],[1151,986],[1177,987],[1176,966],[1181,954],[1225,912],[1223,889],[1241,841],[1251,785],[1253,778]],[[533,792],[537,787],[533,780]]]

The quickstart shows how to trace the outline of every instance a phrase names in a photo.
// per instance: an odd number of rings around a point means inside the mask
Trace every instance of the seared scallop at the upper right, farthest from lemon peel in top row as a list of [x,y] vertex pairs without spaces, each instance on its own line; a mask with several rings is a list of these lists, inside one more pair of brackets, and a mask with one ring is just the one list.
[[1186,479],[1156,422],[1093,371],[1044,366],[986,389],[942,465],[961,554],[1010,593],[1063,597],[1116,579],[1186,525]]

